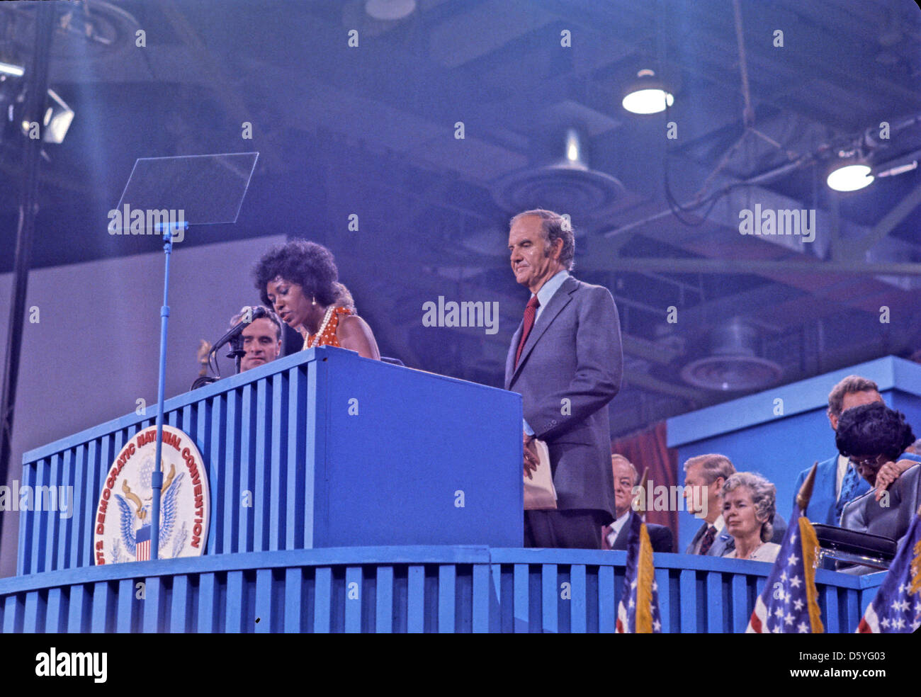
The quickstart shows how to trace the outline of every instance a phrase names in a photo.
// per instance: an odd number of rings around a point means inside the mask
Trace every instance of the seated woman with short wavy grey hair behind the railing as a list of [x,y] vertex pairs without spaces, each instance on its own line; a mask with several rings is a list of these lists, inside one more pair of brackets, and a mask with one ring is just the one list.
[[726,559],[774,562],[780,545],[771,542],[777,490],[760,474],[736,472],[723,484],[723,520],[735,541]]

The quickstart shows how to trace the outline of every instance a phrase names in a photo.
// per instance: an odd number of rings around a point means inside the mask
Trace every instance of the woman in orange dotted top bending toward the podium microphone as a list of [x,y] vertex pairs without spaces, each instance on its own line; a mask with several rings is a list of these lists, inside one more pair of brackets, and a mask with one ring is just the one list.
[[269,250],[253,270],[262,302],[304,337],[303,348],[341,346],[380,360],[367,322],[344,307],[332,252],[297,239]]

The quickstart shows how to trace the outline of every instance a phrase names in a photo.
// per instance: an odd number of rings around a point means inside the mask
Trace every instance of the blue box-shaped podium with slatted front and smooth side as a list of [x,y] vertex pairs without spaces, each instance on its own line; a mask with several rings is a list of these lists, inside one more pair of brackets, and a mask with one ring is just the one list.
[[[72,486],[72,517],[19,517],[17,574],[93,565],[112,459],[155,425],[129,414],[23,456],[23,485]],[[340,545],[522,543],[521,399],[322,347],[174,397],[211,491],[204,554]]]

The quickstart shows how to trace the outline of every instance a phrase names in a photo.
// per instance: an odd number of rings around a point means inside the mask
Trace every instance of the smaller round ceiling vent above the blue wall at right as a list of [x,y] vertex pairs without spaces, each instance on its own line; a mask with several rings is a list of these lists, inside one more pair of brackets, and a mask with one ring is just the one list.
[[758,356],[758,332],[739,318],[710,331],[710,354],[682,368],[682,379],[698,388],[741,392],[774,385],[783,368]]

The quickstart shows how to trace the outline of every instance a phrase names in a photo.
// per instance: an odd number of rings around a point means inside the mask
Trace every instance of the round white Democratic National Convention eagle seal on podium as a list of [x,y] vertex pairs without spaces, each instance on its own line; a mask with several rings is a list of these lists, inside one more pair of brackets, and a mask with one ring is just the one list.
[[[150,559],[151,477],[157,427],[138,432],[112,462],[99,494],[93,557],[97,564]],[[160,540],[157,557],[201,556],[208,539],[211,497],[202,454],[187,434],[163,426]]]

